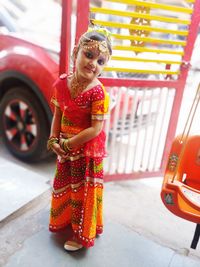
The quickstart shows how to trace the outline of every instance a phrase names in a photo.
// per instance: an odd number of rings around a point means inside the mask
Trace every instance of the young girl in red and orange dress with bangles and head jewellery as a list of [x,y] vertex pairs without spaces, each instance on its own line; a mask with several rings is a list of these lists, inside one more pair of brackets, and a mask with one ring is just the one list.
[[106,29],[89,30],[74,48],[75,72],[55,83],[55,111],[48,148],[57,154],[50,231],[71,224],[64,248],[94,245],[103,232],[102,194],[105,133],[109,99],[98,76],[112,54]]

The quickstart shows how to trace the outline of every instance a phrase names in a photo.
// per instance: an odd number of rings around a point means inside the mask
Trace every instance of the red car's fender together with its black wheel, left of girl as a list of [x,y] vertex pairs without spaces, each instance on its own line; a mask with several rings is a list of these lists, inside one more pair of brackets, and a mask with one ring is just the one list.
[[[0,130],[7,148],[24,161],[47,157],[54,51],[0,34]],[[56,56],[56,53],[55,55]]]

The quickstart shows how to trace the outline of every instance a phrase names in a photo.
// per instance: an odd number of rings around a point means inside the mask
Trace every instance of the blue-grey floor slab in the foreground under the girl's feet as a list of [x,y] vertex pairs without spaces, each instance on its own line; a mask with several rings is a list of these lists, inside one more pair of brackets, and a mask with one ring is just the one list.
[[180,255],[113,221],[106,220],[105,232],[95,247],[65,252],[67,233],[49,234],[48,210],[42,212],[40,231],[30,236],[10,257],[5,267],[199,267],[200,261]]

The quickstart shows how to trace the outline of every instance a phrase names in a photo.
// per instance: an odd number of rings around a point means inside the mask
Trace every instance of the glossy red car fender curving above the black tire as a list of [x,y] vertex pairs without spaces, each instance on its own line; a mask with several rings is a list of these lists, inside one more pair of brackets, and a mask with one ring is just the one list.
[[[6,75],[7,73],[7,75]],[[10,77],[8,77],[10,73]],[[52,85],[58,77],[58,64],[44,48],[14,35],[0,35],[0,81],[19,73],[31,80],[49,103]],[[1,86],[0,86],[1,90]]]

